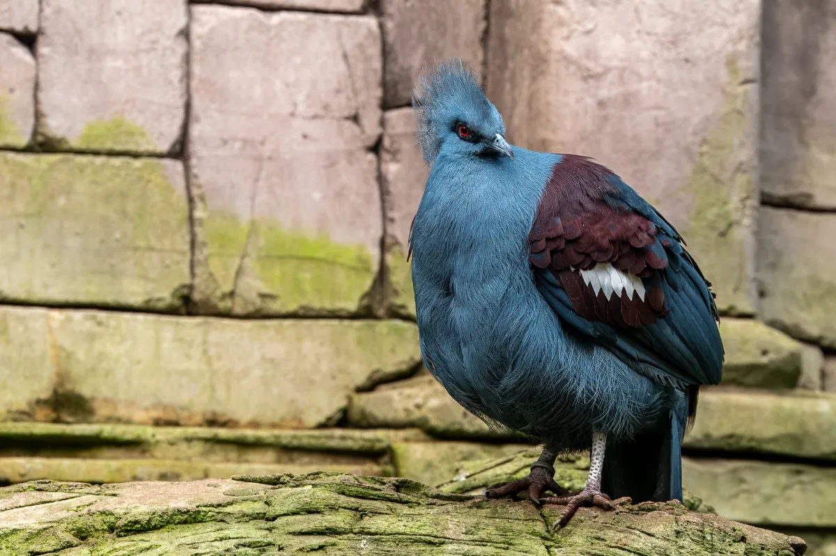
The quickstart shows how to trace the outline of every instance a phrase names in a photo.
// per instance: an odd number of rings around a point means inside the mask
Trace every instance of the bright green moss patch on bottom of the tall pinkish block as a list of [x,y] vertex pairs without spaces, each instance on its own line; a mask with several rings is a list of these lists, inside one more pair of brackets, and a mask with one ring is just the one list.
[[218,213],[204,230],[209,267],[244,312],[351,314],[375,280],[375,258],[363,246]]

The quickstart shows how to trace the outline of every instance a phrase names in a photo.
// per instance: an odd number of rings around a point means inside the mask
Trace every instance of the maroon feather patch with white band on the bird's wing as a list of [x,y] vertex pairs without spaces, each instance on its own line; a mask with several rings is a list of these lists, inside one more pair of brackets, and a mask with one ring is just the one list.
[[529,260],[547,268],[573,311],[587,320],[637,328],[664,317],[655,275],[668,265],[653,222],[621,209],[613,173],[583,156],[564,155],[543,191]]

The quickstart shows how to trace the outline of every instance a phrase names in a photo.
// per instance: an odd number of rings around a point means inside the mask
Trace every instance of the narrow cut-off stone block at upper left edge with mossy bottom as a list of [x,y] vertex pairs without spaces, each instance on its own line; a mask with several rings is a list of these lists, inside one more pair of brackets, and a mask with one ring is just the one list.
[[0,33],[0,147],[22,147],[35,124],[35,59],[12,35]]

